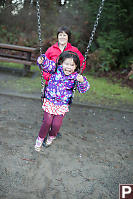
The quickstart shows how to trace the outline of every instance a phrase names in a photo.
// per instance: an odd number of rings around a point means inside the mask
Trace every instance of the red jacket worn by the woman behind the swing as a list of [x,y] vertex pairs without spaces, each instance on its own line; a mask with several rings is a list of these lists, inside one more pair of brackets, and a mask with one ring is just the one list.
[[[81,54],[81,52],[76,47],[72,46],[70,43],[67,43],[67,46],[64,49],[64,51],[68,51],[68,50],[78,54],[79,59],[80,59],[80,66],[82,66],[82,62],[84,60],[84,56]],[[56,59],[59,57],[59,55],[61,53],[62,53],[62,51],[60,50],[60,48],[58,46],[58,42],[56,42],[54,45],[52,45],[51,47],[48,48],[48,50],[46,51],[45,55],[46,55],[46,57],[48,59],[56,62]],[[85,67],[86,67],[86,62],[84,64],[83,71],[84,71]],[[47,84],[47,81],[49,81],[49,79],[51,77],[51,74],[43,72],[43,77],[46,80],[45,83]]]

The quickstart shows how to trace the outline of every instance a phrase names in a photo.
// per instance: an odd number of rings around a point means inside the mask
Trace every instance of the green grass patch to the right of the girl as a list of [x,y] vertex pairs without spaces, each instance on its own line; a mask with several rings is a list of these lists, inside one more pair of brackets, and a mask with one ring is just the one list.
[[133,104],[133,90],[128,87],[122,87],[120,83],[112,83],[105,78],[96,78],[86,75],[90,82],[90,90],[82,94],[77,93],[79,100],[93,102],[96,104],[117,105],[118,103]]

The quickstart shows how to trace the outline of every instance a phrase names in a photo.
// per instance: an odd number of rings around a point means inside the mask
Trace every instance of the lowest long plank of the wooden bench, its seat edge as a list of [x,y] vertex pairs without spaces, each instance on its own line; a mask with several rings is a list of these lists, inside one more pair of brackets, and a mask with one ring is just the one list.
[[32,64],[32,61],[12,59],[12,58],[6,58],[6,57],[0,57],[0,62],[12,62],[12,63],[18,63],[18,64],[24,64],[24,65]]

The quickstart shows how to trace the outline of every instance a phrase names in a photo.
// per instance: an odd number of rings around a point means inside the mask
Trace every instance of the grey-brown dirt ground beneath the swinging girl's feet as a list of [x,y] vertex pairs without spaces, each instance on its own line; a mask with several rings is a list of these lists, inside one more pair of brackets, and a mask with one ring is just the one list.
[[39,100],[0,95],[0,199],[117,199],[133,183],[133,113],[73,105],[61,138],[34,144]]

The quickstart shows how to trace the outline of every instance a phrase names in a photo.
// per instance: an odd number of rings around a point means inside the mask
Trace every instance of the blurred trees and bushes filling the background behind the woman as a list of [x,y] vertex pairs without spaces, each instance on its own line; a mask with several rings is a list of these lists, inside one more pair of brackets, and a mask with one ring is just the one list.
[[[40,1],[43,50],[56,41],[59,26],[72,31],[71,43],[86,51],[101,0]],[[94,71],[130,71],[133,66],[133,1],[105,1],[89,52]],[[0,1],[0,42],[38,46],[35,0]]]

